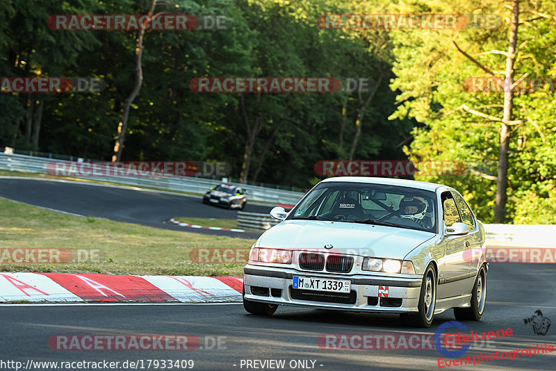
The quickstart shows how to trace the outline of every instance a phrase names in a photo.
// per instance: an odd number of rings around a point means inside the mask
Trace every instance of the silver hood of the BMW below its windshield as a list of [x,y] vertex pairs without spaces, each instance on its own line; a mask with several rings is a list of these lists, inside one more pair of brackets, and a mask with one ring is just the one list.
[[[257,240],[257,247],[336,252],[403,259],[434,233],[348,222],[286,220]],[[325,249],[325,245],[332,248]]]

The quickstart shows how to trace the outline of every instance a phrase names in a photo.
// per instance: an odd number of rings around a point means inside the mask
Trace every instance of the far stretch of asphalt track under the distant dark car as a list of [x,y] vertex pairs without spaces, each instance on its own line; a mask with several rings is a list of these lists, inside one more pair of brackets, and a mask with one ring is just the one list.
[[[67,213],[105,217],[117,222],[142,224],[174,231],[240,238],[258,238],[261,235],[252,232],[193,229],[164,223],[171,217],[177,216],[236,219],[236,210],[203,204],[200,196],[137,188],[106,187],[95,183],[13,177],[0,179],[0,197]],[[248,201],[245,211],[268,214],[271,208],[272,206],[269,205]]]

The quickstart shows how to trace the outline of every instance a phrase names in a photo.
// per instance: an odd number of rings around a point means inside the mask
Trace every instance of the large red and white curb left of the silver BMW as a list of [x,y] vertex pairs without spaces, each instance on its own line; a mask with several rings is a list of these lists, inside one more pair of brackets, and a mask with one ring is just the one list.
[[0,303],[241,302],[242,288],[243,277],[0,272]]

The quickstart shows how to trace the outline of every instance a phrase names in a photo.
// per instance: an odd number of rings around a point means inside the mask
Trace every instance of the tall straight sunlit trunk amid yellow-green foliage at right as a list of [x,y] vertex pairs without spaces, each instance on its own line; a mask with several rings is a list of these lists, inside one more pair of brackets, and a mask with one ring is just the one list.
[[[506,82],[511,85],[514,79],[514,62],[516,58],[516,44],[518,36],[519,0],[512,1],[512,23],[509,35],[508,55],[506,58]],[[509,85],[507,85],[509,87]],[[504,115],[500,128],[500,158],[498,160],[498,177],[496,179],[496,206],[494,208],[494,222],[503,223],[506,216],[507,184],[508,184],[508,151],[512,108],[514,95],[511,88],[504,92]]]

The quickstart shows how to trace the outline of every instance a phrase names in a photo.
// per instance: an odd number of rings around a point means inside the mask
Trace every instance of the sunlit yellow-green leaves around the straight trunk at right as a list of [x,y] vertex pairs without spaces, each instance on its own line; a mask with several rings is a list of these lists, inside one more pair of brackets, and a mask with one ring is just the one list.
[[[400,90],[402,102],[392,119],[415,118],[423,124],[413,130],[414,140],[404,151],[411,160],[463,162],[468,172],[462,176],[417,176],[417,179],[445,183],[460,190],[473,210],[485,222],[493,220],[496,195],[500,123],[467,113],[466,105],[493,117],[502,117],[503,93],[468,92],[464,81],[486,76],[459,47],[491,71],[504,71],[505,56],[489,51],[507,51],[509,10],[500,1],[448,0],[400,1],[391,13],[495,14],[501,19],[493,29],[462,31],[423,30],[391,33],[395,45],[391,88]],[[531,22],[531,10],[555,14],[554,3],[543,8],[521,1],[518,52],[515,76],[555,76],[553,40],[555,20],[540,17]],[[554,92],[516,94],[509,152],[507,222],[550,223],[556,178],[556,132],[553,122]],[[482,173],[482,174],[481,174]]]

